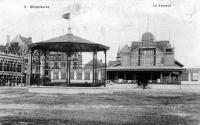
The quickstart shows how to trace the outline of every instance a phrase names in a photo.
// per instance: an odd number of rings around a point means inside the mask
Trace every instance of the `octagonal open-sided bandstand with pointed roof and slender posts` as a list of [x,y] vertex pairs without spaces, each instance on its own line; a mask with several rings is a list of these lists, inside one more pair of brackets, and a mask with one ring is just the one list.
[[[81,37],[75,36],[71,33],[71,28],[68,28],[68,33],[63,36],[52,38],[46,41],[33,43],[28,46],[29,48],[29,64],[30,74],[28,75],[28,84],[42,85],[42,86],[76,86],[83,85],[84,83],[72,83],[70,78],[71,70],[71,55],[77,52],[90,52],[93,53],[93,66],[92,66],[92,80],[87,86],[100,86],[106,84],[106,52],[109,47],[94,43]],[[47,65],[48,53],[57,52],[64,53],[66,55],[66,79],[62,82],[56,82],[45,75],[46,71],[49,70]],[[104,52],[105,55],[105,66],[101,71],[104,72],[104,77],[98,79],[97,73],[97,53]],[[48,60],[49,61],[49,60]],[[33,67],[36,67],[37,71],[33,72]],[[37,68],[38,67],[38,68]]]

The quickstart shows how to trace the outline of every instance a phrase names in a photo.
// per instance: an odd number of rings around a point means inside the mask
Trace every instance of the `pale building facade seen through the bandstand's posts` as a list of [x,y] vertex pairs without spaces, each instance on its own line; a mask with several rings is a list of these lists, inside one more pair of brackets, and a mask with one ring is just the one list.
[[[70,78],[73,83],[93,83],[93,60],[87,64],[82,64],[82,53],[73,53],[67,59],[66,53],[62,52],[47,52],[46,59],[43,53],[35,52],[33,54],[32,75],[35,79],[35,84],[43,84],[41,79],[45,78],[45,83],[66,83]],[[30,57],[29,57],[30,58]],[[29,59],[31,60],[31,59]],[[45,68],[46,62],[46,68]],[[30,65],[30,62],[29,62]],[[70,74],[67,73],[68,65],[70,65]],[[102,60],[97,60],[97,71],[95,77],[97,80],[104,80],[105,64]],[[37,80],[38,79],[38,80]],[[40,79],[40,80],[39,80]]]

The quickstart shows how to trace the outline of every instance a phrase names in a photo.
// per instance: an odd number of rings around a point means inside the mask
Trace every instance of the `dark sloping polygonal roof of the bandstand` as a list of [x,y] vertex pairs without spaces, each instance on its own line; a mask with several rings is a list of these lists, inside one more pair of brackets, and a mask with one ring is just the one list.
[[68,33],[63,36],[52,38],[46,41],[30,44],[31,50],[59,51],[59,52],[93,52],[106,51],[109,47],[91,42],[84,38]]

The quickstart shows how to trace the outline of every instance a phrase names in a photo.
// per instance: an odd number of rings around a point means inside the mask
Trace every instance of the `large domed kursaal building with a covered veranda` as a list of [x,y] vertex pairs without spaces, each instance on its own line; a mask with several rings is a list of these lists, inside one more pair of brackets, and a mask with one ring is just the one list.
[[110,61],[107,77],[115,82],[147,82],[181,84],[185,69],[174,58],[174,48],[169,41],[156,41],[152,33],[146,32],[141,41],[118,50],[117,60]]

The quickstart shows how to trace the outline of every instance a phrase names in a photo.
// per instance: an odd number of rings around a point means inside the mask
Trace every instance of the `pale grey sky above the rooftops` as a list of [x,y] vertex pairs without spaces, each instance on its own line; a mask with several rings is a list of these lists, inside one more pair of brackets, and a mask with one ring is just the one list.
[[[33,42],[61,36],[70,23],[74,35],[110,47],[111,61],[118,48],[149,31],[156,40],[169,40],[185,67],[199,68],[199,11],[199,0],[1,0],[0,44],[6,44],[7,34],[11,40],[20,34]],[[67,12],[70,22],[61,18]],[[103,53],[98,57],[104,59]]]

